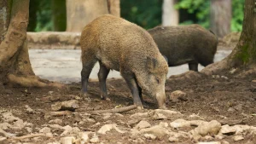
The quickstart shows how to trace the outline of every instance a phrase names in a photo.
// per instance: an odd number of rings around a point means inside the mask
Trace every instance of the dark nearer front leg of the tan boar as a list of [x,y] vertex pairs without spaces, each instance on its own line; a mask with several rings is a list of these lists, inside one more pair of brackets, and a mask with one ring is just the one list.
[[136,105],[139,109],[143,108],[143,103],[141,101],[140,97],[140,88],[137,85],[136,78],[131,76],[124,76],[126,83],[128,84],[129,89],[131,89],[131,94],[133,96],[133,103]]

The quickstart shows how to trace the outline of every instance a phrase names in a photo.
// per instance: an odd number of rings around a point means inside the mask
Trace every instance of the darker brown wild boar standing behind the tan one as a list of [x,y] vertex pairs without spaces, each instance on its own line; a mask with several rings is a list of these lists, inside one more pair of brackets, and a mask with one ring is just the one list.
[[218,38],[199,25],[157,26],[148,30],[168,66],[189,63],[189,70],[198,71],[198,63],[213,63]]

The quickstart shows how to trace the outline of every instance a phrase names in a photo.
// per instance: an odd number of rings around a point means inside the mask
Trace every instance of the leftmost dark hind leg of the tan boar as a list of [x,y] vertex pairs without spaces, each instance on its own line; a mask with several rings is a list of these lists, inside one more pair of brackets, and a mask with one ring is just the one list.
[[90,61],[85,61],[83,60],[83,69],[81,71],[81,84],[82,84],[82,89],[81,93],[84,96],[87,96],[87,87],[88,87],[88,79],[90,76],[90,72],[95,65],[96,60],[90,60]]

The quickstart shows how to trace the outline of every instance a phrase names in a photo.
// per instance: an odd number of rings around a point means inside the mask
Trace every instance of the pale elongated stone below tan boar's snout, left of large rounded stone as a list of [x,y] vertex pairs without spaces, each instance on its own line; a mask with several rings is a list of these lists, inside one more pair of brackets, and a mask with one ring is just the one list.
[[161,127],[160,125],[155,125],[151,128],[146,128],[146,129],[142,129],[139,131],[140,133],[143,134],[153,134],[157,137],[162,137],[164,135],[168,134],[168,130],[166,130],[165,128]]

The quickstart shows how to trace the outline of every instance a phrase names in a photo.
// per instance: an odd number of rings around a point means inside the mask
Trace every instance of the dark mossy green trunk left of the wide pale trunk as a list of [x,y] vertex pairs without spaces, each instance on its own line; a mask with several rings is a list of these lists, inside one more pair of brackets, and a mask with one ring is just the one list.
[[65,0],[51,0],[52,9],[52,20],[53,20],[53,30],[55,32],[66,31],[66,1]]

